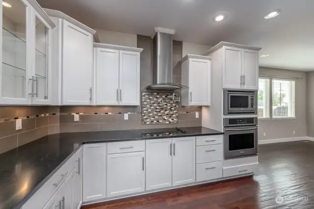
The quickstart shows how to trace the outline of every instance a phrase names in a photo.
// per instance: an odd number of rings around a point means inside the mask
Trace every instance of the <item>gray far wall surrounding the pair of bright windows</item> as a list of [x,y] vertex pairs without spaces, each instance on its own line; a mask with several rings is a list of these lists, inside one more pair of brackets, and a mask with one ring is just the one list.
[[[260,75],[303,77],[295,80],[295,119],[259,120],[259,140],[307,136],[307,75],[300,71],[260,67]],[[313,76],[314,80],[314,76]],[[312,84],[313,85],[313,84]],[[293,134],[295,131],[295,134]],[[266,136],[263,133],[266,133]],[[313,131],[314,132],[314,131]]]

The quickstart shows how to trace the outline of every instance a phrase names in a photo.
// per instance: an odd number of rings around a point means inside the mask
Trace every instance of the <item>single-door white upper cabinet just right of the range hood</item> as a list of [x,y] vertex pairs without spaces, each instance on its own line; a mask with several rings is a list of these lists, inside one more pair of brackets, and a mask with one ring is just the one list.
[[210,105],[210,59],[209,56],[187,54],[182,62],[183,106]]

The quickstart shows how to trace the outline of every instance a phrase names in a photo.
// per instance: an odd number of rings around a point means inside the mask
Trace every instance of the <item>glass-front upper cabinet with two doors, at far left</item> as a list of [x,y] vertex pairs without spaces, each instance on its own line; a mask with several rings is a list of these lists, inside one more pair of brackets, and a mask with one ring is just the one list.
[[51,104],[55,25],[35,0],[3,0],[0,11],[0,104]]

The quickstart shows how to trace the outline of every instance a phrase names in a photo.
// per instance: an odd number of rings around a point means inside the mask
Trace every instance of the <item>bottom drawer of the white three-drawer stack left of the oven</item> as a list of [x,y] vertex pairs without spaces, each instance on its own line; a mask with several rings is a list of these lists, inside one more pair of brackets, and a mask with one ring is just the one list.
[[196,165],[196,182],[222,178],[222,161]]

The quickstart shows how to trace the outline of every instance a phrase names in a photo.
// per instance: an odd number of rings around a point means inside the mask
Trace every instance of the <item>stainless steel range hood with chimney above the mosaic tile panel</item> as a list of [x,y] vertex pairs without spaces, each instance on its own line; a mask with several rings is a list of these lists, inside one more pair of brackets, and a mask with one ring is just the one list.
[[[146,86],[152,90],[181,89],[181,84],[172,82],[172,40],[175,30],[155,27],[153,84]],[[187,88],[187,87],[186,87]]]

